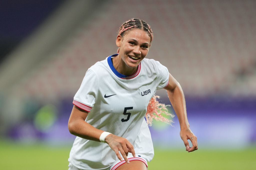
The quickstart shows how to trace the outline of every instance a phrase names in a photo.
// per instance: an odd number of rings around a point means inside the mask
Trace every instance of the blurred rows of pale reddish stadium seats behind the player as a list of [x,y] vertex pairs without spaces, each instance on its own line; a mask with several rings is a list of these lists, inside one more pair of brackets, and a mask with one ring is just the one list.
[[253,7],[254,1],[109,1],[16,90],[42,99],[73,96],[87,69],[116,53],[120,25],[138,17],[155,36],[147,57],[164,64],[185,94],[256,95]]

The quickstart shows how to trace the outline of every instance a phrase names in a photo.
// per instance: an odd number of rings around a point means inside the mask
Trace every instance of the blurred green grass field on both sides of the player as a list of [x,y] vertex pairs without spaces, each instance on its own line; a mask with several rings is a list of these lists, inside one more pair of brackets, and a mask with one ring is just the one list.
[[[56,170],[68,169],[71,146],[49,147],[0,142],[0,169]],[[159,169],[256,169],[256,148],[239,151],[184,151],[155,149],[149,170]]]

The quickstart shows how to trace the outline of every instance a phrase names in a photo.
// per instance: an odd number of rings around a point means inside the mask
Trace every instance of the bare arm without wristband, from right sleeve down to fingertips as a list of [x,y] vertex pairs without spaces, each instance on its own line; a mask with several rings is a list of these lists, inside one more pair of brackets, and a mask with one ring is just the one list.
[[[187,119],[186,102],[183,90],[177,80],[169,73],[169,84],[165,87],[170,102],[172,103],[173,109],[178,117],[180,124],[180,137],[183,140],[186,151],[192,152],[198,149],[197,137],[189,128]],[[189,147],[188,139],[192,143],[192,147]]]

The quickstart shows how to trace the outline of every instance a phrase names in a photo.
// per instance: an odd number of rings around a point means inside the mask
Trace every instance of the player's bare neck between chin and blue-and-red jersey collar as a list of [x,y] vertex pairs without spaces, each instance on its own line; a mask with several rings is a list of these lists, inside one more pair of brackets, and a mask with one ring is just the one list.
[[116,71],[118,71],[119,73],[123,74],[123,75],[132,75],[134,73],[136,73],[138,66],[135,68],[131,68],[129,66],[127,66],[125,64],[125,62],[122,60],[121,56],[118,55],[116,57],[113,58],[113,66],[116,69]]

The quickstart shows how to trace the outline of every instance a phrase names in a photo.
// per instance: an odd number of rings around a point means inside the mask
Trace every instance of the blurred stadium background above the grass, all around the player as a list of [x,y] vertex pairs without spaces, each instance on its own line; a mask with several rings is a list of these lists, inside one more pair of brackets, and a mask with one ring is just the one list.
[[[1,1],[0,139],[70,150],[67,122],[85,72],[116,54],[123,22],[140,18],[154,33],[147,58],[183,87],[200,148],[255,146],[255,9],[254,0]],[[156,95],[170,104],[165,90]],[[173,119],[150,127],[155,147],[184,149]]]

